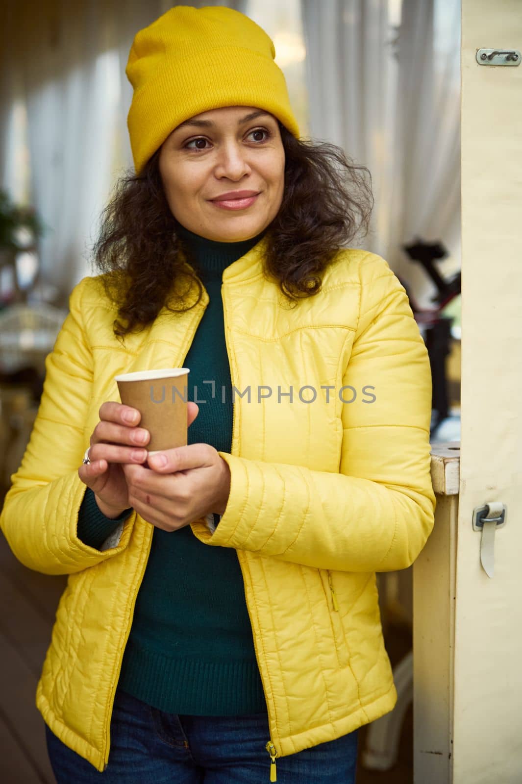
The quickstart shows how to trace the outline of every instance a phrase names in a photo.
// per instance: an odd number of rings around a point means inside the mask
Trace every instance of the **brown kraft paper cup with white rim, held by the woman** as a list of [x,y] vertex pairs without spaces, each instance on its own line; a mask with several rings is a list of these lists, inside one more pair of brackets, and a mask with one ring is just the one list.
[[150,432],[150,455],[187,445],[188,373],[188,368],[163,368],[114,376],[121,402],[138,409],[138,426]]

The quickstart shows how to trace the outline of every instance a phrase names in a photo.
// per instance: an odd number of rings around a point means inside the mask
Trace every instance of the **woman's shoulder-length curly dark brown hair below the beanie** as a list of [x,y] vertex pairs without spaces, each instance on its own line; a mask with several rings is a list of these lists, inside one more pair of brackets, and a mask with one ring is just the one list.
[[[295,300],[321,290],[321,273],[339,247],[348,245],[361,229],[363,236],[368,234],[372,177],[341,147],[296,139],[277,122],[285,149],[285,190],[281,208],[266,230],[265,265],[288,300],[297,304]],[[179,223],[165,198],[158,158],[159,150],[140,176],[127,172],[118,180],[93,247],[94,263],[105,273],[105,292],[118,307],[116,336],[150,325],[161,307],[180,312],[201,299],[201,281],[179,254],[181,250],[188,260],[176,234]],[[194,285],[197,297],[187,298]]]

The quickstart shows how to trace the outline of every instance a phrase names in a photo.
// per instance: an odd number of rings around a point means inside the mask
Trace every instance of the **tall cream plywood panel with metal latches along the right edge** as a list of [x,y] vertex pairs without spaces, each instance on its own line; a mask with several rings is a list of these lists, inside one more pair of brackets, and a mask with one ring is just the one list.
[[[520,0],[462,0],[462,438],[455,610],[454,784],[522,777],[522,50]],[[495,576],[473,508],[506,503]]]

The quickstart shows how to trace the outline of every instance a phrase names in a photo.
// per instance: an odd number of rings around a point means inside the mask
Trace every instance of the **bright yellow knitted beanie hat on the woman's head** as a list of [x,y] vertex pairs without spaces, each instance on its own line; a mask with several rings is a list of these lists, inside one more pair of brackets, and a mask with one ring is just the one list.
[[221,5],[175,5],[136,33],[125,73],[134,88],[127,124],[136,173],[184,120],[209,109],[252,106],[299,136],[272,40]]

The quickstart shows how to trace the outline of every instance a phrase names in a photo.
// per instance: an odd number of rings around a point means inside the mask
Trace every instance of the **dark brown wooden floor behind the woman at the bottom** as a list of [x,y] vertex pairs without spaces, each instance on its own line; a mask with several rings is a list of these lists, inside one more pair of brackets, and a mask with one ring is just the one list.
[[[0,501],[1,503],[1,501]],[[56,784],[45,748],[36,684],[65,578],[31,572],[16,561],[0,533],[0,782]],[[392,662],[410,641],[397,631],[386,641]],[[392,771],[357,770],[357,784],[411,784],[411,710],[404,722],[399,760]],[[364,745],[361,731],[360,748]],[[103,777],[100,777],[103,782]],[[74,782],[71,782],[74,784]],[[140,784],[136,780],[136,784]],[[319,784],[319,782],[318,782]]]

